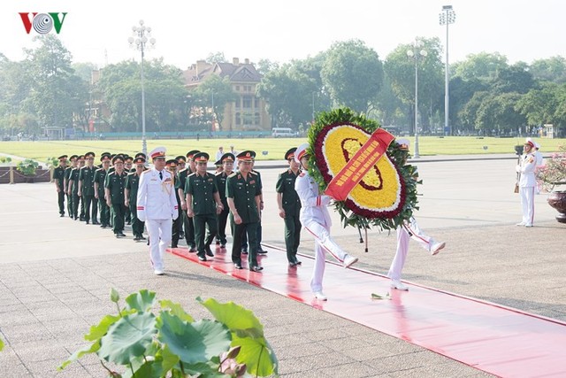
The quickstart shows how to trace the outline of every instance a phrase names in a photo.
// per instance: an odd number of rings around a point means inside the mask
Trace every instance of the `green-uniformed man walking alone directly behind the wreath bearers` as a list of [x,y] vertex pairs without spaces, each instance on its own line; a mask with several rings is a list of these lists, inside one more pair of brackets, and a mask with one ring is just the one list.
[[301,265],[301,261],[297,259],[297,251],[299,243],[301,243],[301,220],[299,220],[301,199],[294,191],[294,181],[301,171],[299,170],[299,163],[294,161],[295,150],[297,150],[296,147],[287,150],[285,153],[289,168],[279,174],[275,184],[279,217],[285,221],[285,247],[289,266]]

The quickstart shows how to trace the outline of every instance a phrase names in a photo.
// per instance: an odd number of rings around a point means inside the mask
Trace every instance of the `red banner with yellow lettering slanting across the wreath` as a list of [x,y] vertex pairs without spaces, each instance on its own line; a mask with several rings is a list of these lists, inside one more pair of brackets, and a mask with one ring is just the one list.
[[349,159],[346,166],[340,169],[332,181],[328,183],[325,194],[337,201],[345,201],[348,194],[357,183],[363,179],[372,166],[378,164],[379,159],[385,154],[389,144],[395,139],[394,135],[378,128],[368,139],[360,150]]

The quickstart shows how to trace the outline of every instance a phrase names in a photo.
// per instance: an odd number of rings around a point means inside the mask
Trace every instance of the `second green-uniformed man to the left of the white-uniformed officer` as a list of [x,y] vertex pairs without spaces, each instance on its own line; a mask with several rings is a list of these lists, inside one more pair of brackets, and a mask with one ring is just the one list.
[[126,236],[124,234],[124,187],[127,173],[124,170],[124,157],[116,155],[112,159],[114,172],[106,175],[104,182],[106,204],[111,207],[111,217],[114,235],[116,237]]

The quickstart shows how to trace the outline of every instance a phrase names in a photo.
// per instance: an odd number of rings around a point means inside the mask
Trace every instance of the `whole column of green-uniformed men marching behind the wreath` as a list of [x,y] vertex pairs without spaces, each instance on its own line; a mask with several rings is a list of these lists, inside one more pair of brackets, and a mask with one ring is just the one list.
[[[288,162],[293,161],[293,153],[291,149],[285,154]],[[103,152],[98,166],[94,164],[95,158],[92,151],[58,158],[54,181],[59,216],[65,217],[66,212],[73,220],[111,228],[117,238],[126,237],[126,225],[131,225],[134,242],[147,240],[145,224],[137,216],[138,187],[142,174],[148,170],[147,157],[141,152],[134,157]],[[217,248],[226,250],[229,224],[235,268],[242,268],[241,255],[244,255],[250,270],[263,269],[257,260],[258,253],[266,253],[260,245],[263,184],[260,174],[253,169],[255,158],[252,150],[237,155],[224,153],[214,163],[214,174],[207,172],[209,154],[199,150],[190,150],[185,156],[166,161],[164,169],[172,175],[179,209],[172,222],[172,248],[177,248],[184,239],[189,251],[206,261],[207,257],[214,257],[210,245],[215,239]],[[235,170],[234,164],[237,164]],[[276,189],[279,215],[285,220],[283,235],[288,263],[298,266],[301,262],[296,259],[296,251],[301,226],[296,219],[301,202],[294,192],[297,166],[289,164],[289,168],[279,174]]]

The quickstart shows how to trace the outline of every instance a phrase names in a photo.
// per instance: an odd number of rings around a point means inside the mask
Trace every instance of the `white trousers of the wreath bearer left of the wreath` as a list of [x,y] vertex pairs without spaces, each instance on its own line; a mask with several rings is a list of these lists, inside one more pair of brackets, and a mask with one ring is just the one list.
[[330,237],[330,229],[317,221],[311,220],[302,225],[315,238],[315,267],[310,279],[312,292],[322,291],[322,279],[325,275],[325,251],[329,252],[338,261],[344,261],[346,252],[334,243]]

